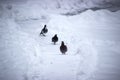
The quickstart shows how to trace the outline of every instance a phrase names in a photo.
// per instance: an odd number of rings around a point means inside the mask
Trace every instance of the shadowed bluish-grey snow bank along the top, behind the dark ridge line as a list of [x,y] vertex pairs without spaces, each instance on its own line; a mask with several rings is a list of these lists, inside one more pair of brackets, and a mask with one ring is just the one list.
[[[24,5],[24,8],[36,10],[45,10],[64,15],[76,15],[86,10],[108,9],[118,11],[120,9],[119,0],[1,0],[1,5],[7,4],[10,8],[17,5]],[[36,7],[39,7],[37,9]]]

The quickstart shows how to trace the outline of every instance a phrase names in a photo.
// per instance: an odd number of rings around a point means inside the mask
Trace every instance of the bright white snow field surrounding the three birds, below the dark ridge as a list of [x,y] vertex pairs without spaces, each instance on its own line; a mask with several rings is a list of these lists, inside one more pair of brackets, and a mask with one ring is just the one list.
[[[28,7],[33,2],[0,6],[0,80],[120,79],[120,11],[65,16],[51,10],[56,3],[47,9]],[[39,35],[44,24],[45,37]],[[59,37],[56,45],[51,42],[54,34]],[[66,55],[59,50],[61,41],[68,47]]]

